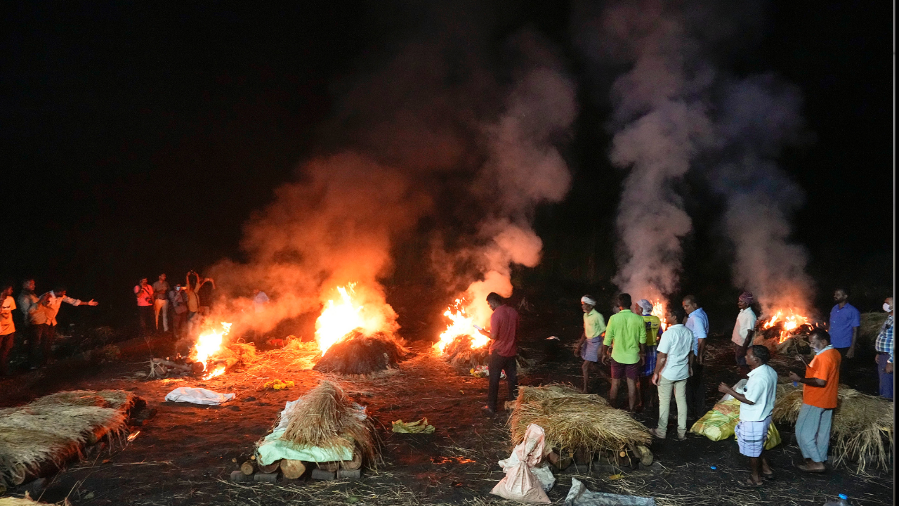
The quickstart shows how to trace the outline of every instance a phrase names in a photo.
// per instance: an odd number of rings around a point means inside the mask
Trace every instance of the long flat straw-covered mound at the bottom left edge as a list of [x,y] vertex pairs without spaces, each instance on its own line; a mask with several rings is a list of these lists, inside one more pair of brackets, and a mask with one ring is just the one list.
[[0,484],[15,486],[41,465],[61,465],[86,443],[127,429],[132,393],[60,392],[0,410]]

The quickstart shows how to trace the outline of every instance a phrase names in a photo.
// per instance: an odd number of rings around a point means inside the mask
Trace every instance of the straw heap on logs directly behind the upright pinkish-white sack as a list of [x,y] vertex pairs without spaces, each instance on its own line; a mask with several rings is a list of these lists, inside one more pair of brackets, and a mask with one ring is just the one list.
[[652,437],[644,425],[621,410],[610,407],[599,395],[577,393],[565,385],[523,386],[509,420],[512,443],[536,423],[546,431],[547,444],[562,451],[618,450],[628,443],[647,445]]

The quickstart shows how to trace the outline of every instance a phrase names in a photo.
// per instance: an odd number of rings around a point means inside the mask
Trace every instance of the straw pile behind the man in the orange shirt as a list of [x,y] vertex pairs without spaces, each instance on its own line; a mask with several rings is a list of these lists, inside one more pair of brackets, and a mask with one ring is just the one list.
[[[796,423],[802,408],[802,388],[779,384],[772,413],[776,421]],[[893,402],[840,385],[831,420],[833,465],[856,464],[887,469],[893,448]]]

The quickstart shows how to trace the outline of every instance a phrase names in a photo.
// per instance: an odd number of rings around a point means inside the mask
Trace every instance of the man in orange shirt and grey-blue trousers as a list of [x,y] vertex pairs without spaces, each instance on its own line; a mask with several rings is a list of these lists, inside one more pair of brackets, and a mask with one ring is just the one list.
[[[796,439],[806,464],[797,467],[806,473],[823,473],[826,468],[827,447],[831,441],[831,418],[837,407],[837,388],[840,385],[840,351],[831,346],[826,330],[814,330],[808,337],[814,358],[806,365],[806,377],[793,371],[789,379],[804,384],[802,408],[796,420]],[[798,359],[805,362],[802,357]]]

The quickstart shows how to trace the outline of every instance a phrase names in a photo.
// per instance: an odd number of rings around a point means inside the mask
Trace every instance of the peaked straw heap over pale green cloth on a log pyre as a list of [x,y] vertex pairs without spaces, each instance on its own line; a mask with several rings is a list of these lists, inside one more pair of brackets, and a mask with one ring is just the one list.
[[[282,439],[300,447],[348,448],[359,451],[369,463],[375,462],[378,448],[371,422],[360,415],[341,387],[323,381],[300,401],[289,411]],[[354,446],[358,449],[354,450]]]

